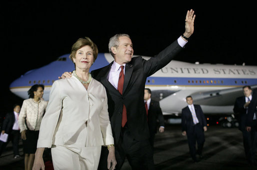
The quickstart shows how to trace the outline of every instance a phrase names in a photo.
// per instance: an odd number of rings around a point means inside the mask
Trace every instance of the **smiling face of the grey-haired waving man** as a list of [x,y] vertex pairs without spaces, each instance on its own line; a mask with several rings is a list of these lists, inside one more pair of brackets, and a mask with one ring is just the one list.
[[112,52],[115,54],[115,62],[122,65],[131,60],[133,55],[133,44],[131,39],[127,36],[121,36],[118,39],[119,45],[117,47],[113,47]]

